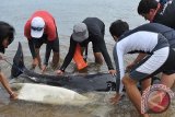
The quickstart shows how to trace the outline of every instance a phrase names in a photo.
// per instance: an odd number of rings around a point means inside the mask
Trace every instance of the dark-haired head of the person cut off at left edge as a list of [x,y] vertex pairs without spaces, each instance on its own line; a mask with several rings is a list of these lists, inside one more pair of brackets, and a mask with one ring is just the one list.
[[15,30],[10,24],[0,21],[0,46],[1,48],[8,48],[8,46],[14,39]]

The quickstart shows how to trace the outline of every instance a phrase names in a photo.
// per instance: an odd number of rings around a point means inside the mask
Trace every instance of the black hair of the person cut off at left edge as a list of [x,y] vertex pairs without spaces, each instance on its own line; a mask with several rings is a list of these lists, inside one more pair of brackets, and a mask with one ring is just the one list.
[[11,44],[14,39],[15,30],[9,23],[0,21],[0,45],[3,39],[9,37],[9,44]]

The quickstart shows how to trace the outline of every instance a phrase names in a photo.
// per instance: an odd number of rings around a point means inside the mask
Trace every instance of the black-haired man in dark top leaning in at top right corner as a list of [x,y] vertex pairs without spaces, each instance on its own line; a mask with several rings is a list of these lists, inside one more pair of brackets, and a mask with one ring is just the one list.
[[138,13],[150,22],[175,28],[175,0],[141,0]]

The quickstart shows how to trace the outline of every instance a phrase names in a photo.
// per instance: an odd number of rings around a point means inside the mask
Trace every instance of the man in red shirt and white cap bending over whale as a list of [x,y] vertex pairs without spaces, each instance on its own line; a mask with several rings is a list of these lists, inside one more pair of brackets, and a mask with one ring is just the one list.
[[[59,62],[59,39],[55,19],[46,11],[36,11],[26,22],[24,27],[24,35],[28,40],[30,50],[33,57],[32,68],[39,66],[42,72],[46,70],[51,50],[52,67],[57,68]],[[39,56],[39,48],[46,44],[46,54],[44,65]]]

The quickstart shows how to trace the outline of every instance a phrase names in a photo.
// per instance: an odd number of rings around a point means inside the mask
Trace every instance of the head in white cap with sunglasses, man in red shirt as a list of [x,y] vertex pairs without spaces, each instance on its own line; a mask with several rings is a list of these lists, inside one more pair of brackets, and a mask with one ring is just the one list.
[[45,21],[43,17],[36,16],[31,22],[31,36],[34,38],[40,38],[44,34]]

